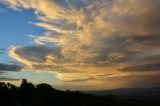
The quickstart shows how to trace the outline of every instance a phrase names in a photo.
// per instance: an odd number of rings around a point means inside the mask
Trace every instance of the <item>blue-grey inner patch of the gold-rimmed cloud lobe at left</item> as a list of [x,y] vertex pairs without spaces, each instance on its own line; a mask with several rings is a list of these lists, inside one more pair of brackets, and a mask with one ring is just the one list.
[[48,55],[53,55],[55,57],[61,57],[60,48],[49,47],[49,46],[28,46],[28,47],[18,47],[15,49],[15,54],[18,54],[26,61],[43,63]]

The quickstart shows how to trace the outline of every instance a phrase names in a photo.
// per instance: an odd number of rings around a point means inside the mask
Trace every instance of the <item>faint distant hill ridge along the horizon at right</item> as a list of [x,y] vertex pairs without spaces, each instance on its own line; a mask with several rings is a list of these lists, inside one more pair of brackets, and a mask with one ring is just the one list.
[[94,95],[116,95],[116,96],[158,96],[160,97],[160,87],[153,88],[120,88],[103,91],[85,91]]

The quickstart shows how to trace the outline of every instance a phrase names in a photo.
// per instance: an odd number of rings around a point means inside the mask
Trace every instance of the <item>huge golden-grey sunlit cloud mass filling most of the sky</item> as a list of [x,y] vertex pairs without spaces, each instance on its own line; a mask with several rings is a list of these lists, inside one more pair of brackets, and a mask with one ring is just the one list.
[[[64,81],[87,80],[89,83],[89,79],[109,83],[107,80],[111,76],[106,74],[123,79],[132,75],[133,70],[143,70],[143,73],[155,70],[153,63],[158,59],[151,57],[160,54],[159,0],[1,2],[15,10],[33,9],[41,21],[34,24],[49,30],[44,35],[32,36],[38,46],[9,49],[11,57],[30,69],[53,72]],[[150,64],[149,69],[146,64]],[[156,70],[159,70],[157,65]],[[123,80],[116,82],[125,83]]]

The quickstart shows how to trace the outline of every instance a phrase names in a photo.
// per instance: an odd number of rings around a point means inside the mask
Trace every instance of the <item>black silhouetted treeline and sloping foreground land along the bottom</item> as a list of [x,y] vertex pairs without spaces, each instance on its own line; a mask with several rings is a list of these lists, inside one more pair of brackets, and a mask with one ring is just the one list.
[[0,82],[0,106],[160,106],[158,98],[95,96],[79,91],[60,91],[42,83],[22,80],[20,87]]

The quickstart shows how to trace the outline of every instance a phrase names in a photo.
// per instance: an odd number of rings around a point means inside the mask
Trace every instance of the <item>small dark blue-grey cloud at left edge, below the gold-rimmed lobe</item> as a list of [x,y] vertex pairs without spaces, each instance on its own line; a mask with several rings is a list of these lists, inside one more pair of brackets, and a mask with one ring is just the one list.
[[16,64],[0,63],[0,71],[21,71],[23,67]]

